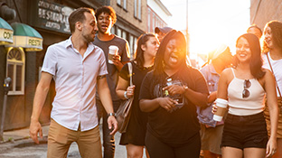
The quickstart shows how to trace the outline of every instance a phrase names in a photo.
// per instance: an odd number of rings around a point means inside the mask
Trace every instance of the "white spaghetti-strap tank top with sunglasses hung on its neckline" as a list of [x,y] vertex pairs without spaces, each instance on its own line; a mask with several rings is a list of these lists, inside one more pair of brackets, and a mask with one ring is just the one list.
[[228,85],[229,113],[236,116],[249,116],[263,111],[265,90],[261,87],[258,79],[249,79],[249,97],[243,98],[245,79],[238,79],[231,68],[234,78]]

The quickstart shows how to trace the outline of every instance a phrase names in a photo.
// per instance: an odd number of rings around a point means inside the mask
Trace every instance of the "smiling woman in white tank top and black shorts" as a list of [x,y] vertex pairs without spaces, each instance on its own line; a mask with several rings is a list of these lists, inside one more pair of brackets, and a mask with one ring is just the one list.
[[[223,70],[218,98],[228,99],[221,140],[223,158],[264,158],[277,149],[277,97],[270,70],[262,68],[258,37],[241,35],[236,42],[234,68]],[[271,134],[263,116],[264,97],[268,98]],[[214,106],[213,112],[216,111]]]

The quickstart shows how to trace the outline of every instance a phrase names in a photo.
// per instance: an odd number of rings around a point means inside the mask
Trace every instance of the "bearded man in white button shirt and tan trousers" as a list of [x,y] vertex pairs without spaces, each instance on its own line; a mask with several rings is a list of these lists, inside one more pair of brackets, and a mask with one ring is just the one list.
[[39,116],[54,79],[56,96],[52,102],[47,157],[67,157],[71,143],[76,142],[81,157],[101,158],[96,88],[108,113],[108,128],[113,128],[111,135],[117,132],[118,123],[105,78],[108,71],[104,52],[91,43],[98,31],[94,11],[79,8],[70,15],[69,23],[71,37],[52,44],[46,51],[33,100],[30,135],[38,144],[38,134],[42,137]]

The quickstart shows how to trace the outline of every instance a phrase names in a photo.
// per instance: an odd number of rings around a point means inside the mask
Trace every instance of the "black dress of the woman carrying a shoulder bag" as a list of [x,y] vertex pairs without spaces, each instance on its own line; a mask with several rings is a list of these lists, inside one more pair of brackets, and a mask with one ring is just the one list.
[[[134,61],[132,63],[133,72],[133,84],[136,86],[134,90],[134,99],[132,105],[131,116],[129,118],[129,123],[127,126],[127,132],[121,135],[119,144],[135,144],[135,145],[145,145],[145,135],[146,135],[146,124],[147,124],[147,114],[142,112],[139,107],[139,92],[142,80],[146,76],[146,73],[153,69],[153,67],[141,69]],[[122,70],[120,70],[120,77],[126,79],[129,83],[129,73],[128,65],[124,65]]]

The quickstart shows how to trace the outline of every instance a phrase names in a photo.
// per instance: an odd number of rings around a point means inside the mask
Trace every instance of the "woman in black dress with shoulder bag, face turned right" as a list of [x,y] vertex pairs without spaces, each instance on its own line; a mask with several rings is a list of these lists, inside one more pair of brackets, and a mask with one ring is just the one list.
[[129,72],[126,64],[119,74],[117,94],[119,98],[134,98],[127,132],[120,137],[119,144],[126,145],[128,158],[142,158],[145,146],[147,114],[139,107],[139,91],[146,73],[153,70],[155,53],[159,42],[153,33],[142,34],[137,40],[136,59],[131,61],[134,86],[129,86]]

